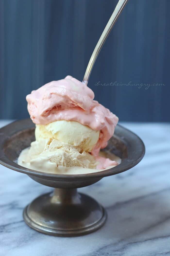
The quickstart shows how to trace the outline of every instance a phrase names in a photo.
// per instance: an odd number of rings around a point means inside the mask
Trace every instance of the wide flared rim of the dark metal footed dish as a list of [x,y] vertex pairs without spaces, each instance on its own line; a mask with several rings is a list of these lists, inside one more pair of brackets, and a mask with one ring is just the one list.
[[35,176],[48,180],[72,182],[79,180],[101,179],[103,177],[125,172],[126,170],[131,169],[132,167],[137,165],[145,155],[145,145],[143,141],[139,138],[139,136],[124,128],[122,125],[117,124],[117,126],[115,127],[114,135],[126,144],[128,151],[128,158],[123,159],[123,161],[119,165],[103,171],[87,174],[54,174],[40,172],[18,165],[17,163],[11,161],[4,152],[4,145],[12,135],[15,135],[18,132],[22,132],[23,130],[32,129],[33,127],[35,127],[35,124],[31,121],[30,118],[28,118],[14,121],[0,129],[1,165],[17,172],[25,173],[29,176]]

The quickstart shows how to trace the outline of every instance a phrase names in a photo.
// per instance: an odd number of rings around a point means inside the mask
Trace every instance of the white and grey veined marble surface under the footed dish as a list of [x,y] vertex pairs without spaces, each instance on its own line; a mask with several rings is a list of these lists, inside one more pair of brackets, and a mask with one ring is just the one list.
[[29,228],[23,208],[52,189],[0,166],[1,256],[170,255],[170,124],[122,124],[142,138],[146,155],[134,168],[79,189],[108,212],[106,224],[86,236],[52,237]]

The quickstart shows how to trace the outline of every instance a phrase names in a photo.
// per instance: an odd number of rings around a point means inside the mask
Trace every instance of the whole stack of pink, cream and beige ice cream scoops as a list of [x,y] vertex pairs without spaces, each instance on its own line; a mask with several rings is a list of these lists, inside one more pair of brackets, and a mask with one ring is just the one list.
[[94,100],[85,83],[67,76],[32,91],[26,99],[36,140],[21,152],[18,164],[52,173],[88,173],[118,164],[99,155],[118,118]]

